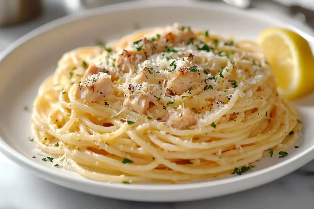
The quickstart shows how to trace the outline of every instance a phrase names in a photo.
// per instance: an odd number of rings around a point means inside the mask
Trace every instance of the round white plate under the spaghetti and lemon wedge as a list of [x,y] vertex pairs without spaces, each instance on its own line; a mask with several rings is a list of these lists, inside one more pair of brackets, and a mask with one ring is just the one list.
[[[310,41],[312,32],[290,19],[274,18],[258,11],[240,11],[225,4],[189,3],[180,6],[168,1],[165,6],[145,6],[143,2],[123,3],[97,8],[59,19],[19,39],[0,58],[0,150],[15,163],[56,184],[75,190],[118,199],[136,201],[188,201],[220,196],[265,184],[286,175],[313,159],[314,95],[295,102],[303,121],[303,138],[299,149],[287,150],[285,158],[265,157],[254,164],[252,172],[230,175],[221,180],[178,185],[128,185],[89,180],[80,175],[32,159],[35,144],[28,140],[31,106],[37,88],[52,74],[63,53],[79,46],[93,44],[95,39],[117,39],[142,27],[172,24],[210,29],[237,39],[255,40],[269,26],[289,27]],[[293,27],[295,25],[296,27]]]

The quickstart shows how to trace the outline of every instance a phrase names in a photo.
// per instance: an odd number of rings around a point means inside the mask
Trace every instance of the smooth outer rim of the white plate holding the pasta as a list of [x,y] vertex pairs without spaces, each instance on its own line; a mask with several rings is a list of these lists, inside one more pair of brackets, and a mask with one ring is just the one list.
[[[24,36],[22,36],[21,38],[16,40],[14,43],[10,44],[0,54],[0,63],[3,62],[3,60],[8,55],[10,55],[11,53],[14,53],[14,51],[17,48],[19,48],[22,44],[30,41],[31,39],[34,39],[36,36],[44,34],[50,30],[53,30],[54,28],[57,28],[57,27],[63,25],[63,24],[70,24],[72,22],[79,21],[79,20],[82,20],[84,18],[97,16],[97,15],[101,15],[101,14],[105,14],[105,13],[114,13],[114,12],[118,12],[118,11],[132,10],[132,9],[144,9],[144,8],[151,8],[154,6],[158,6],[158,7],[162,7],[162,8],[165,8],[165,7],[180,7],[181,8],[181,7],[191,7],[192,6],[193,8],[201,8],[202,7],[202,9],[207,9],[207,10],[212,9],[210,7],[214,7],[215,9],[223,10],[224,12],[227,12],[227,13],[235,13],[235,14],[240,13],[240,11],[236,11],[236,10],[233,10],[230,12],[230,8],[226,8],[219,3],[206,3],[206,8],[204,7],[205,3],[198,3],[198,2],[190,2],[190,3],[191,4],[181,4],[181,5],[176,5],[173,3],[167,3],[167,4],[150,3],[148,5],[148,4],[143,3],[143,1],[133,1],[133,2],[117,3],[117,4],[107,5],[104,7],[88,9],[88,10],[85,10],[83,12],[75,13],[75,14],[65,16],[62,18],[58,18],[56,20],[53,20],[47,24],[44,24],[44,25],[36,28],[35,30],[25,34]],[[255,15],[257,14],[257,16],[258,16],[257,18],[261,18],[261,17],[265,18],[265,15],[270,16],[270,18],[276,17],[275,15],[270,15],[270,14],[267,14],[263,11],[253,11],[253,12]],[[248,17],[252,16],[252,14],[250,14],[250,13],[245,13],[245,15],[247,15]],[[310,41],[311,43],[314,43],[314,38],[312,36],[314,34],[313,31],[311,29],[307,28],[304,24],[300,24],[299,22],[296,22],[296,21],[294,21],[290,18],[286,18],[284,16],[281,18],[281,20],[280,20],[280,18],[276,17],[273,19],[273,21],[281,23],[281,24],[283,22],[285,22],[287,25],[292,26],[297,32],[299,32],[300,34],[305,36],[308,41]],[[306,32],[304,32],[304,30],[306,30]],[[4,140],[3,138],[6,138],[6,140]],[[42,177],[46,180],[52,181],[56,184],[58,184],[58,183],[56,181],[52,180],[53,178],[57,178],[58,181],[65,181],[66,180],[69,183],[78,184],[81,186],[98,186],[98,187],[100,186],[103,189],[118,189],[118,190],[128,190],[128,191],[141,190],[143,192],[145,192],[145,191],[167,191],[167,192],[170,191],[170,192],[174,192],[174,191],[179,191],[179,190],[180,191],[182,191],[182,190],[187,191],[187,190],[201,189],[201,188],[207,188],[207,187],[210,188],[213,186],[236,183],[238,181],[242,181],[242,180],[246,180],[246,179],[250,180],[250,179],[254,179],[254,178],[257,178],[259,176],[266,175],[266,174],[271,175],[271,177],[269,177],[268,180],[264,180],[263,182],[260,182],[258,184],[246,185],[246,186],[242,186],[241,188],[230,189],[230,191],[221,192],[221,194],[219,193],[216,195],[211,195],[210,197],[221,196],[224,194],[230,194],[230,193],[234,193],[237,191],[243,191],[243,190],[257,187],[259,185],[273,181],[273,180],[275,180],[279,177],[282,177],[282,176],[292,172],[293,170],[296,170],[296,169],[300,168],[301,166],[305,165],[307,162],[309,162],[309,161],[311,161],[311,159],[313,159],[313,157],[311,157],[311,155],[313,156],[313,154],[314,154],[314,146],[312,146],[310,148],[307,148],[304,152],[297,154],[297,155],[291,157],[290,159],[287,159],[281,163],[277,163],[275,165],[269,166],[269,167],[264,168],[262,170],[254,171],[252,173],[247,173],[245,175],[239,175],[239,176],[235,176],[235,177],[231,177],[231,178],[227,178],[227,179],[203,181],[203,182],[191,182],[191,183],[175,184],[175,185],[147,185],[147,184],[128,185],[128,184],[110,184],[109,182],[100,182],[97,180],[89,180],[87,178],[77,179],[76,177],[64,176],[64,175],[62,175],[62,172],[60,172],[58,170],[51,170],[50,168],[42,166],[41,164],[38,164],[37,162],[31,161],[31,159],[27,158],[24,154],[19,153],[17,150],[15,150],[13,147],[11,147],[8,143],[6,143],[6,141],[10,141],[10,139],[3,133],[2,130],[0,130],[0,151],[6,157],[8,157],[8,159],[12,160],[13,162],[17,163],[18,165],[20,165],[22,167],[27,168],[28,170],[31,170],[36,175],[39,175],[40,177]],[[275,174],[277,169],[287,167],[287,165],[289,165],[289,164],[293,165],[293,163],[297,164],[297,165],[290,166],[290,167],[288,166],[289,168],[286,168],[286,170],[284,172],[281,172],[280,174]],[[44,174],[46,176],[43,176]],[[63,185],[63,186],[68,187],[68,188],[72,188],[72,189],[76,189],[79,191],[83,191],[81,189],[78,189],[79,186],[67,186],[67,185]],[[86,191],[83,191],[83,192],[86,192]],[[93,192],[89,191],[88,193],[93,193]],[[99,194],[99,193],[94,193],[94,194],[104,196],[104,195]],[[106,195],[106,196],[108,196],[108,195]],[[111,197],[116,198],[116,196],[111,196]],[[195,200],[195,199],[203,199],[203,198],[208,198],[208,196],[203,195],[203,197],[200,197],[200,198],[194,197],[191,199],[186,199],[186,201]],[[150,201],[150,200],[144,200],[144,198],[136,199],[136,198],[121,197],[121,199]],[[164,201],[164,199],[161,197],[155,197],[155,199],[152,198],[152,200],[153,201]],[[177,201],[177,199],[170,200],[170,201]]]

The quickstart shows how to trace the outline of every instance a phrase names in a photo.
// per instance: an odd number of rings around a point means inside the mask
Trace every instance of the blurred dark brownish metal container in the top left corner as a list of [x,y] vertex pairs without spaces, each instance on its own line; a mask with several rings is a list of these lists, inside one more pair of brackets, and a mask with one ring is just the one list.
[[0,26],[25,22],[41,12],[41,0],[0,0]]

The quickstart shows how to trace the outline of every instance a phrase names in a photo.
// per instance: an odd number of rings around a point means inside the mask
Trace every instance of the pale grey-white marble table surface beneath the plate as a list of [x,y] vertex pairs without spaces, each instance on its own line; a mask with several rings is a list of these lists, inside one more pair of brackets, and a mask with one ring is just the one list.
[[[278,12],[276,8],[269,9]],[[45,0],[41,17],[19,26],[0,29],[0,50],[39,25],[67,15],[68,12],[62,0]],[[311,209],[314,207],[313,197],[314,173],[298,170],[255,189],[203,201],[182,203],[121,201],[52,184],[20,168],[0,154],[0,209]]]

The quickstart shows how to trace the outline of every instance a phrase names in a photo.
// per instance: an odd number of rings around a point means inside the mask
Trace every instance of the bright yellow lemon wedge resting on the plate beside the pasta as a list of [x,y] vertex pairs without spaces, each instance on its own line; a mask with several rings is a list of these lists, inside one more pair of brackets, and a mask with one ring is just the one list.
[[314,89],[314,57],[302,36],[283,28],[268,28],[257,44],[275,73],[279,94],[296,99]]

